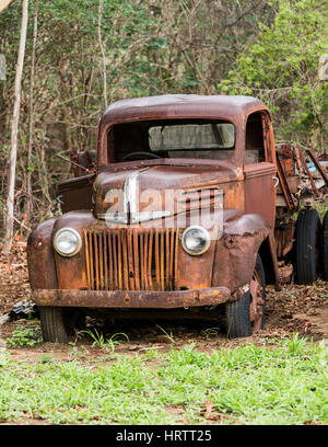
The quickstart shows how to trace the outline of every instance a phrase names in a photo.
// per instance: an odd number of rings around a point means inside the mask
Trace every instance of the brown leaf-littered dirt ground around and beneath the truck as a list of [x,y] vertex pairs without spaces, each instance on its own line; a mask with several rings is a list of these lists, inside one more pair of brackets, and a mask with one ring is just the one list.
[[[169,347],[180,348],[195,343],[195,347],[211,352],[245,343],[263,344],[268,339],[307,336],[314,341],[325,339],[328,345],[328,283],[318,280],[312,286],[286,285],[281,291],[268,286],[265,330],[248,339],[230,341],[223,325],[218,321],[179,320],[128,320],[104,322],[102,318],[87,319],[89,329],[97,329],[105,339],[124,333],[115,344],[115,352],[121,354],[144,353],[148,349],[165,352]],[[13,306],[31,299],[26,253],[24,247],[15,247],[10,255],[0,253],[0,351],[9,351],[16,359],[38,359],[42,355],[70,359],[72,354],[92,359],[102,354],[93,347],[87,335],[72,334],[67,345],[38,343],[34,346],[10,347],[7,339],[14,329],[27,324],[26,319],[10,317]],[[36,321],[36,326],[38,321]],[[126,339],[128,337],[128,340]]]

